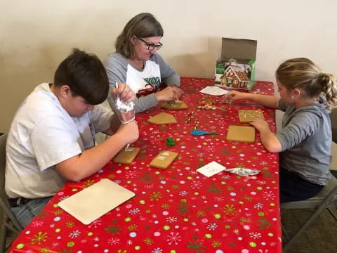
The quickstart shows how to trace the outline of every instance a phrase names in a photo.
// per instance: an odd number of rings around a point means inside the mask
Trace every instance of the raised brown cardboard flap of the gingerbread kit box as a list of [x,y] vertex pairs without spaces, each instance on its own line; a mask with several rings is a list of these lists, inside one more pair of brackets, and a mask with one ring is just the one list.
[[258,41],[223,38],[221,58],[256,59]]

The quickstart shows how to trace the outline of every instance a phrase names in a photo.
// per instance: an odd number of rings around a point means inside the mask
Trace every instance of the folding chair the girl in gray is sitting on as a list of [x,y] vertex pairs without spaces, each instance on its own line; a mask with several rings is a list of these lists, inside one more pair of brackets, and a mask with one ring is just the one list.
[[[337,108],[331,110],[331,129],[332,140],[337,143]],[[337,168],[336,168],[337,169]],[[303,223],[302,226],[296,231],[296,233],[290,238],[286,233],[286,230],[282,226],[282,232],[286,238],[286,242],[283,247],[283,252],[290,249],[293,242],[305,231],[306,228],[314,221],[314,219],[324,210],[328,209],[333,218],[337,221],[337,216],[331,211],[330,208],[337,207],[337,179],[331,174],[331,179],[327,185],[315,196],[309,200],[303,200],[298,202],[286,202],[281,203],[281,209],[315,209],[310,217]]]

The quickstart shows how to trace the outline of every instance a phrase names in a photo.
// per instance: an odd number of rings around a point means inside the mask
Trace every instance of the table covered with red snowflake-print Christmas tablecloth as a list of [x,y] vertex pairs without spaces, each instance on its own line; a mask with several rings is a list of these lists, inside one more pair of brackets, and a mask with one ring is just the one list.
[[[187,110],[151,108],[136,115],[141,148],[132,164],[109,162],[96,174],[67,182],[13,242],[10,252],[85,253],[271,253],[282,252],[279,212],[278,155],[268,153],[256,133],[256,143],[225,140],[230,124],[239,124],[237,110],[257,109],[275,131],[275,110],[249,101],[222,103],[199,93],[213,79],[182,78],[181,100]],[[274,93],[272,82],[256,82],[251,92]],[[197,109],[204,99],[223,110]],[[194,114],[189,115],[189,112]],[[146,120],[169,112],[178,124],[154,125]],[[191,117],[189,123],[188,119]],[[197,127],[214,136],[191,136]],[[176,145],[166,145],[172,137]],[[169,169],[149,167],[161,150],[180,154]],[[260,169],[256,176],[221,172],[206,178],[197,168],[216,161],[227,168]],[[100,179],[111,179],[132,190],[131,198],[89,225],[64,212],[57,203]],[[107,196],[109,198],[114,196]]]

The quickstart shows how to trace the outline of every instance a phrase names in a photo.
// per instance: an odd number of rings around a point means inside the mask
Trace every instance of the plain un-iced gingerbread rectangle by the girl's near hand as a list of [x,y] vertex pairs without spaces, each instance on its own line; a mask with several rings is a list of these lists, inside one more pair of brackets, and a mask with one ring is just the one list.
[[227,141],[254,143],[255,128],[253,126],[230,126],[227,132]]

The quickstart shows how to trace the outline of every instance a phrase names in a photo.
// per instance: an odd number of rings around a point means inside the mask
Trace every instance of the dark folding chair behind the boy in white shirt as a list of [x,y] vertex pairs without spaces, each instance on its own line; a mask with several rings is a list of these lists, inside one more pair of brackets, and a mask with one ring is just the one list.
[[[11,240],[8,237],[8,232],[13,232],[16,235],[22,231],[22,226],[11,212],[11,207],[5,193],[5,167],[6,167],[6,139],[7,134],[0,136],[0,208],[4,212],[2,233],[0,235],[0,253],[4,253],[11,245]],[[7,247],[6,247],[7,243]]]

